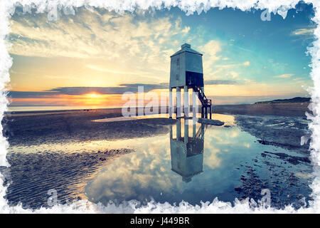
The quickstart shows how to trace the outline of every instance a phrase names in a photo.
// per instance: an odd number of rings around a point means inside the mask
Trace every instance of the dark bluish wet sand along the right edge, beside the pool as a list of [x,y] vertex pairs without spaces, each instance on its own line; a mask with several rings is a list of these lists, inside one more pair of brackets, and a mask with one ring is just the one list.
[[[301,207],[304,203],[309,205],[309,185],[313,180],[309,142],[304,145],[300,143],[303,135],[311,133],[308,130],[309,120],[303,116],[235,115],[235,123],[241,130],[255,136],[261,145],[287,150],[261,150],[252,160],[253,165],[248,165],[247,162],[241,165],[245,169],[240,177],[242,185],[235,189],[240,198],[259,199],[261,190],[267,188],[272,192],[274,207],[283,208],[287,204]],[[266,165],[267,178],[257,175],[256,170],[260,164]]]

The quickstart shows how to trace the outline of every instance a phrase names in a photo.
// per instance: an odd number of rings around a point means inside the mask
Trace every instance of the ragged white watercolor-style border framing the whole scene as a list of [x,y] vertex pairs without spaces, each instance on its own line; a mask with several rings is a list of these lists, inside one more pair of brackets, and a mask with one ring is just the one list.
[[[283,18],[287,16],[287,11],[294,8],[298,4],[299,0],[120,0],[120,1],[103,1],[103,0],[2,0],[0,1],[0,114],[1,119],[4,116],[4,111],[8,104],[6,99],[6,93],[4,90],[9,85],[10,76],[9,68],[12,65],[12,58],[9,56],[10,43],[6,41],[6,36],[10,32],[10,17],[14,13],[15,6],[20,4],[23,6],[23,10],[28,12],[31,7],[36,8],[38,13],[48,13],[48,19],[58,19],[58,9],[62,9],[65,14],[74,14],[73,6],[86,6],[90,7],[104,7],[109,10],[114,10],[119,13],[123,11],[134,11],[135,9],[154,9],[169,8],[171,6],[178,6],[186,14],[192,14],[194,11],[200,13],[201,11],[208,11],[211,7],[219,7],[223,9],[225,7],[238,8],[242,11],[247,11],[252,8],[255,9],[269,9],[274,14],[279,14]],[[320,1],[319,0],[306,0],[306,4],[313,4],[315,10],[315,16],[312,21],[317,25],[320,22]],[[10,207],[4,195],[6,194],[6,187],[3,187],[3,176],[0,174],[0,213],[319,213],[320,212],[320,28],[316,27],[314,31],[316,40],[313,43],[313,47],[308,48],[308,53],[312,57],[311,61],[311,78],[314,81],[314,86],[309,88],[311,95],[311,104],[309,109],[313,111],[313,115],[307,117],[312,120],[309,124],[309,128],[312,131],[310,151],[311,162],[314,165],[314,181],[311,185],[313,190],[312,197],[314,202],[308,208],[301,208],[295,210],[291,206],[287,206],[284,209],[263,208],[263,207],[250,207],[250,201],[239,201],[235,199],[235,206],[228,202],[221,202],[218,199],[214,199],[213,202],[207,202],[201,204],[201,206],[192,206],[187,202],[181,202],[178,205],[171,205],[169,203],[160,204],[157,202],[150,202],[144,207],[137,208],[137,202],[130,201],[124,202],[118,206],[109,204],[106,207],[102,204],[93,204],[87,200],[80,200],[69,205],[58,204],[50,208],[41,209],[23,209],[21,204],[15,207]],[[2,125],[0,125],[0,131],[2,132]],[[0,166],[9,166],[6,161],[6,149],[9,146],[6,138],[0,135]]]

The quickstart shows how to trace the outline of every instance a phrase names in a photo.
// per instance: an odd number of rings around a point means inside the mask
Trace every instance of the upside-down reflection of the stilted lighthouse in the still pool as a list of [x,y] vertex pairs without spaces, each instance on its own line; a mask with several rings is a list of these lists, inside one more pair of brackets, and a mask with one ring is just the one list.
[[[192,121],[192,120],[184,120]],[[189,137],[188,126],[192,126],[193,134]],[[182,176],[184,182],[191,182],[191,177],[203,172],[203,144],[205,126],[196,131],[196,123],[183,124],[184,135],[181,137],[181,119],[176,124],[176,138],[174,138],[174,127],[170,128],[171,170]]]

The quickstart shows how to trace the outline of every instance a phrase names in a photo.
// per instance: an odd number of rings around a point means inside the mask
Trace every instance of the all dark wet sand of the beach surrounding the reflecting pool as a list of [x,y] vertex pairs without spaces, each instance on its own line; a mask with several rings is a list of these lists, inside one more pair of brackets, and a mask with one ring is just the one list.
[[[272,192],[279,192],[279,195],[286,195],[292,186],[299,187],[301,192],[292,194],[292,197],[299,199],[305,196],[306,192],[311,192],[303,180],[309,172],[307,180],[310,181],[311,178],[308,145],[300,146],[301,136],[309,134],[308,120],[304,117],[307,110],[306,103],[214,107],[215,113],[235,114],[236,125],[255,136],[261,145],[283,147],[289,151],[284,153],[262,150],[257,152],[257,161],[243,162],[240,167],[235,167],[243,172],[240,177],[242,185],[235,187],[234,190],[238,192],[238,197],[260,199],[260,190],[265,187],[270,188]],[[272,110],[275,113],[272,113]],[[238,115],[240,113],[249,115]],[[4,135],[10,143],[7,159],[11,167],[0,167],[0,171],[6,175],[5,184],[11,183],[6,198],[11,204],[22,202],[23,207],[32,208],[46,207],[48,189],[57,190],[59,199],[63,203],[86,198],[85,183],[95,177],[100,168],[108,162],[128,153],[134,153],[134,150],[121,144],[117,147],[102,145],[97,147],[99,149],[92,147],[90,150],[78,145],[82,142],[89,145],[90,142],[99,140],[112,141],[166,135],[169,134],[170,125],[176,123],[176,120],[168,118],[114,123],[92,121],[120,116],[120,109],[5,115],[2,124]],[[225,125],[225,128],[228,127],[230,126]],[[67,148],[68,144],[74,144],[75,148]],[[41,145],[47,147],[41,148]],[[265,171],[266,175],[270,176],[260,177],[257,174],[257,167],[262,163],[269,169]],[[282,164],[289,164],[292,169],[297,165],[300,170],[306,170],[302,172],[303,178],[297,178],[293,172],[283,168]],[[274,200],[280,199],[283,197]],[[284,204],[279,202],[277,205]]]

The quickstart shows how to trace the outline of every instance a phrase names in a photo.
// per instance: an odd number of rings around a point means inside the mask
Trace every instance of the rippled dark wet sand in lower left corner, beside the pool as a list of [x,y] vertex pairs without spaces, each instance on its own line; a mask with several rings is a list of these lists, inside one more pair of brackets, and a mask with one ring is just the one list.
[[85,183],[94,177],[103,165],[117,157],[133,152],[127,148],[97,150],[97,152],[9,152],[11,167],[0,167],[10,184],[6,199],[10,205],[22,203],[24,208],[48,207],[49,190],[56,190],[59,202],[71,203],[87,199]]

